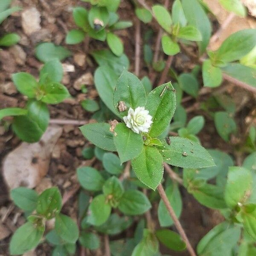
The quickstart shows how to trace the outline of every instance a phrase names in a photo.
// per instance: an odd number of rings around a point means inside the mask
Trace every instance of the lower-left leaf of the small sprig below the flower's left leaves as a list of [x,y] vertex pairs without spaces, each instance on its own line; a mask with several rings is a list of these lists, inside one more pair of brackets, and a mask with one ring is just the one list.
[[87,217],[87,222],[94,226],[100,226],[107,221],[111,213],[111,206],[105,195],[101,194],[93,198],[88,211],[90,215]]

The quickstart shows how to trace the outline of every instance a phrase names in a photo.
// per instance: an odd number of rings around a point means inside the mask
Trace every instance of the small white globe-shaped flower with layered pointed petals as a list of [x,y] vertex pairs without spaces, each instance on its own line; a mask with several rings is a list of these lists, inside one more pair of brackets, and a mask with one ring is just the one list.
[[123,119],[128,128],[135,133],[139,134],[140,131],[148,132],[152,124],[152,116],[148,114],[148,110],[144,107],[138,107],[135,110],[129,108],[128,115],[124,116]]

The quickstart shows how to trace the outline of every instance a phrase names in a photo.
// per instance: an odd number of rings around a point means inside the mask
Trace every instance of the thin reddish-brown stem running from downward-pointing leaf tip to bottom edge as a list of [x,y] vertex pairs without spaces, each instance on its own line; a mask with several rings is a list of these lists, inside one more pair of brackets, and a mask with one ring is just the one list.
[[185,233],[185,231],[183,230],[183,227],[180,224],[180,221],[178,220],[177,216],[175,215],[175,212],[174,212],[174,210],[173,210],[173,208],[172,208],[172,206],[171,206],[171,204],[170,204],[170,202],[169,202],[169,200],[166,196],[166,193],[165,193],[161,183],[158,185],[157,189],[158,189],[160,197],[163,200],[163,203],[165,204],[170,216],[172,217],[172,220],[175,224],[175,227],[177,228],[178,232],[180,233],[180,236],[182,237],[182,239],[186,243],[187,250],[189,251],[191,256],[196,256],[195,251],[194,251],[192,245],[190,244],[189,239],[187,238],[186,233]]

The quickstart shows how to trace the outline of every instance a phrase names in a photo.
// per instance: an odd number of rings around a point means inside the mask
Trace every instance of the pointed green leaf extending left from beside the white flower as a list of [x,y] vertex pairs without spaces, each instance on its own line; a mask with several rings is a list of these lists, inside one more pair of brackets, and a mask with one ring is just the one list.
[[116,147],[113,142],[113,133],[109,131],[109,124],[91,123],[79,128],[84,137],[97,147],[108,151],[116,151]]

